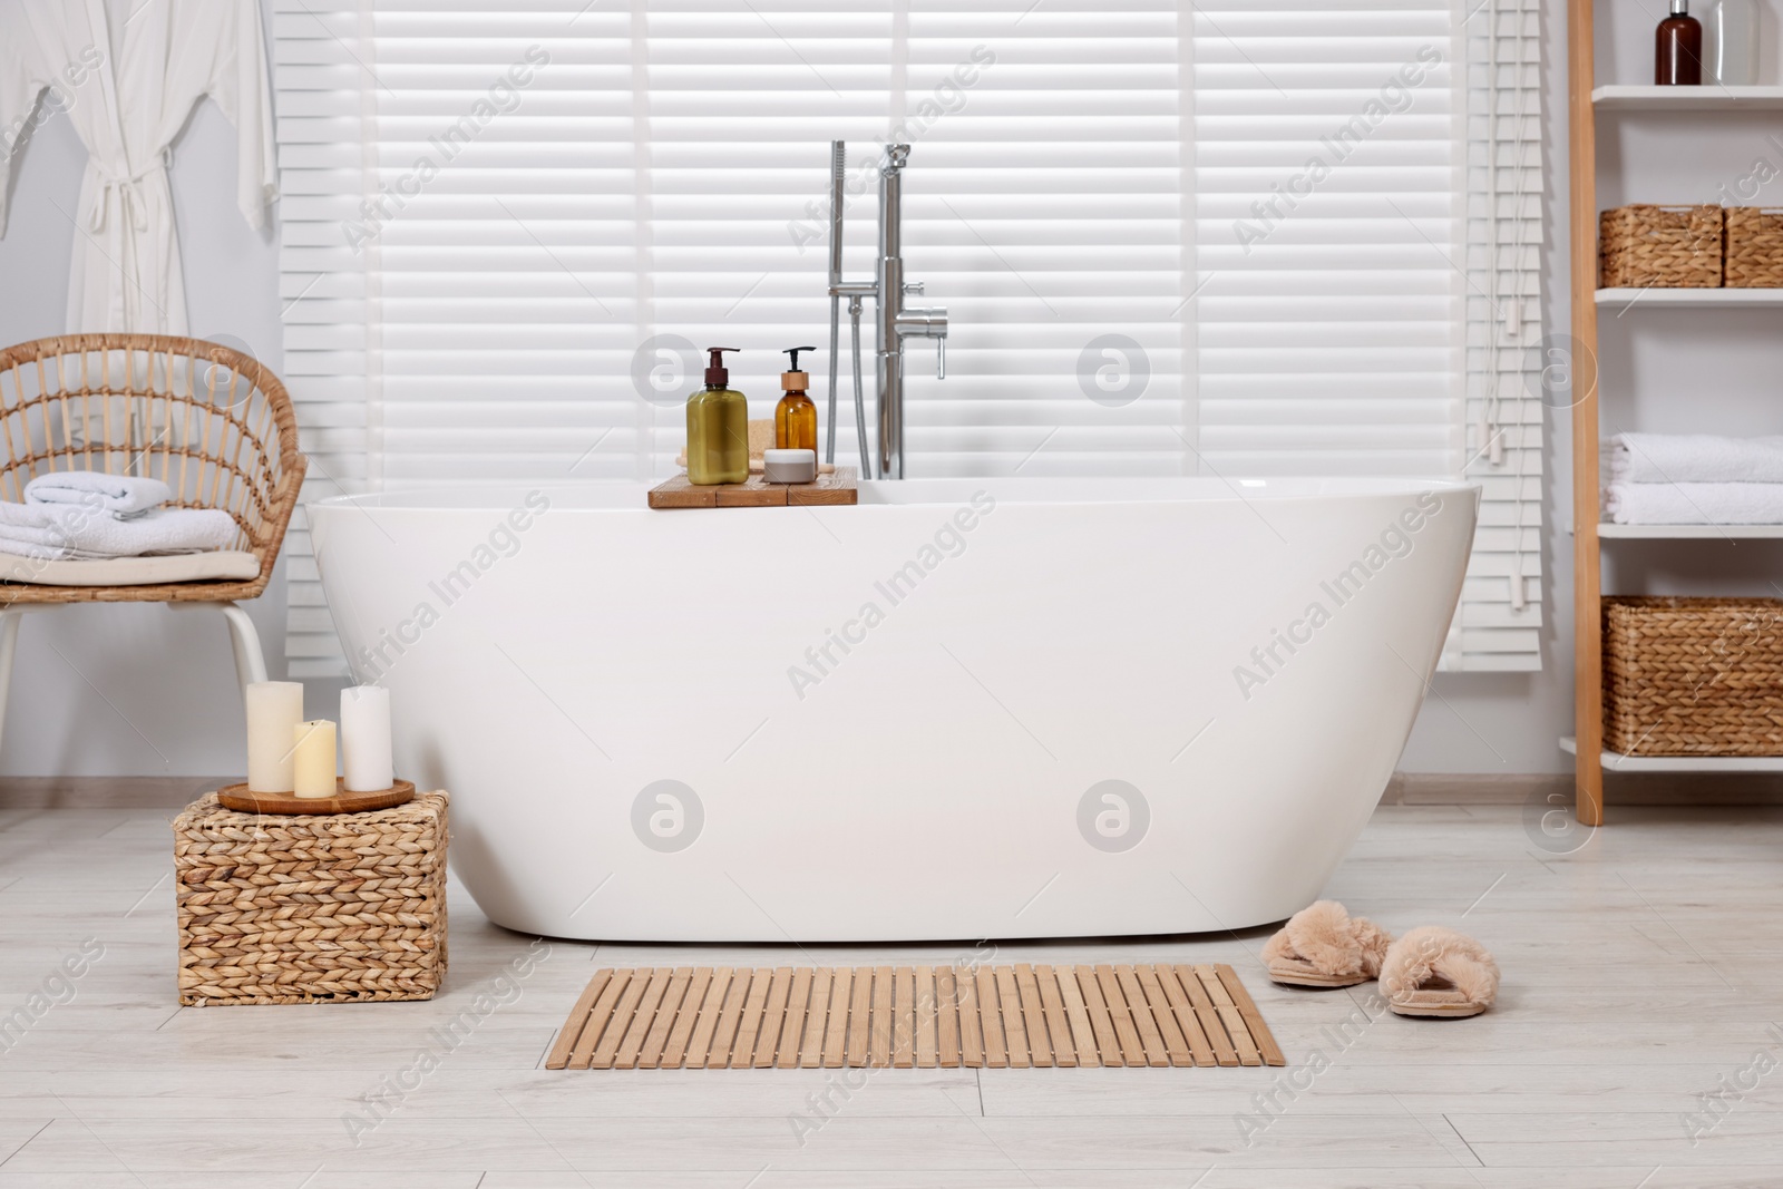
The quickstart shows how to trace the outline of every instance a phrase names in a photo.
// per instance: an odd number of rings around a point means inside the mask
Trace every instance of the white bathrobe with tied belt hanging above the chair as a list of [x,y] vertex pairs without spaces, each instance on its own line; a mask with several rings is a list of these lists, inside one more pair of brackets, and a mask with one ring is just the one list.
[[187,333],[169,144],[216,100],[235,125],[241,212],[264,226],[278,193],[266,80],[259,0],[0,0],[0,235],[14,144],[46,89],[87,146],[71,333]]

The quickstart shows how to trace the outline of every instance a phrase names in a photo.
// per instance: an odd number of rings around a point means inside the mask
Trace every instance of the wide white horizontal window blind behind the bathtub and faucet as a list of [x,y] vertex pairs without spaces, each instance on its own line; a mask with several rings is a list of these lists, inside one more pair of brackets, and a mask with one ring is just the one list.
[[[767,417],[779,351],[818,344],[822,412],[827,143],[865,276],[888,135],[952,323],[947,380],[908,348],[909,474],[1466,465],[1439,0],[276,4],[287,373],[326,490],[667,474],[690,348],[742,348]],[[1234,223],[1425,45],[1414,107],[1246,253]],[[339,670],[305,549],[294,672]]]

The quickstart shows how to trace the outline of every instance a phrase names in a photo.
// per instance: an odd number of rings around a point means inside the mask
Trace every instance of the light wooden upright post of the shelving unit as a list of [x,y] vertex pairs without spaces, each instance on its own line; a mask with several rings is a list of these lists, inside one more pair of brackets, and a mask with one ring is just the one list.
[[[1598,114],[1592,2],[1567,0],[1567,134],[1573,226],[1573,658],[1574,797],[1603,825],[1603,601],[1598,553]],[[1546,365],[1548,360],[1542,360]]]

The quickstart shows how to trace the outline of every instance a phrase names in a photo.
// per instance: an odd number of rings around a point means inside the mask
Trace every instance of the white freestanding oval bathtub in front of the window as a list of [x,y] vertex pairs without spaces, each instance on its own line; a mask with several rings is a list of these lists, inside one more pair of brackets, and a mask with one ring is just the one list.
[[310,504],[399,775],[560,938],[1155,934],[1314,900],[1405,745],[1478,492],[909,480]]

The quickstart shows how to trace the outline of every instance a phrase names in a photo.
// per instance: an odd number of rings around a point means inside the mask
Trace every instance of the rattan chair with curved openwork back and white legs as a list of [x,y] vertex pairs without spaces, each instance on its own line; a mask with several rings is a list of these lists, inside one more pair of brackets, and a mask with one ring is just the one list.
[[[0,581],[0,729],[20,620],[46,606],[218,608],[228,622],[237,679],[244,686],[266,681],[260,638],[237,599],[266,590],[303,483],[298,422],[278,376],[248,355],[198,339],[39,339],[0,351],[0,499],[23,501],[25,483],[57,471],[150,476],[173,488],[169,506],[228,512],[237,524],[232,549],[260,563],[251,578],[159,585]],[[37,565],[43,578],[50,567]]]

